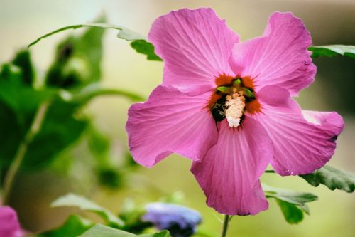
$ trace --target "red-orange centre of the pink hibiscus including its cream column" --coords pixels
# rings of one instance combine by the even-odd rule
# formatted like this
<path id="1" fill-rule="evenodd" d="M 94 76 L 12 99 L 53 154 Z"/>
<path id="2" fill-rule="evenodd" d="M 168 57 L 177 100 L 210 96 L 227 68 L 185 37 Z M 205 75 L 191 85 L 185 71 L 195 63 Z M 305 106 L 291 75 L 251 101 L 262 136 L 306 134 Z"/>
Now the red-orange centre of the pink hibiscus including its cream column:
<path id="1" fill-rule="evenodd" d="M 209 110 L 216 122 L 226 119 L 229 127 L 238 127 L 244 113 L 260 112 L 253 80 L 221 75 L 216 79 L 217 88 L 209 100 Z"/>

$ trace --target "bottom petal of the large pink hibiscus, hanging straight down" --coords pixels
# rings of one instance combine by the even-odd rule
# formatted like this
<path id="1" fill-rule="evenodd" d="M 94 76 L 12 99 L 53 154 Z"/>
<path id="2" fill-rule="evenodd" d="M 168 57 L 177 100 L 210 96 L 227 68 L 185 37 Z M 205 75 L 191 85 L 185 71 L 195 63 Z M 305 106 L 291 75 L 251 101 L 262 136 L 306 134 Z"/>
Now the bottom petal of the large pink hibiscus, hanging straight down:
<path id="1" fill-rule="evenodd" d="M 250 117 L 233 129 L 221 122 L 219 139 L 192 173 L 207 196 L 207 205 L 222 214 L 249 215 L 268 209 L 261 174 L 273 154 L 266 130 Z"/>

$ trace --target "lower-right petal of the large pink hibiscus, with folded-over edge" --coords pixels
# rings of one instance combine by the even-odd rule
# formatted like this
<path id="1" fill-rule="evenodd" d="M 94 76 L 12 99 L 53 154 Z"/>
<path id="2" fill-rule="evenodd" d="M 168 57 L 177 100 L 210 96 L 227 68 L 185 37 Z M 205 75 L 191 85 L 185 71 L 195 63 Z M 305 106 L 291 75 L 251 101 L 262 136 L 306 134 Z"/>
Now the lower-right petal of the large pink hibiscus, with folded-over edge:
<path id="1" fill-rule="evenodd" d="M 308 174 L 332 157 L 344 121 L 337 112 L 302 111 L 287 94 L 277 86 L 262 88 L 262 112 L 255 118 L 273 141 L 273 169 L 280 175 Z"/>

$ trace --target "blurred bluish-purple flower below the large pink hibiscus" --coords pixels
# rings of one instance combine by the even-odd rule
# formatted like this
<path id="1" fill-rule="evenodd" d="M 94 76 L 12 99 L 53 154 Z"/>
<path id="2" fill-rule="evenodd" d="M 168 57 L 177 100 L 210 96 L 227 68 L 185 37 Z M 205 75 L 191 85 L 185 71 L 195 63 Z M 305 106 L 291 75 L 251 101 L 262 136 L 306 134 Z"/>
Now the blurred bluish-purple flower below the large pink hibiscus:
<path id="1" fill-rule="evenodd" d="M 192 236 L 197 224 L 202 221 L 197 211 L 176 204 L 156 202 L 148 204 L 146 209 L 142 220 L 153 223 L 159 230 L 170 231 L 173 237 Z"/>

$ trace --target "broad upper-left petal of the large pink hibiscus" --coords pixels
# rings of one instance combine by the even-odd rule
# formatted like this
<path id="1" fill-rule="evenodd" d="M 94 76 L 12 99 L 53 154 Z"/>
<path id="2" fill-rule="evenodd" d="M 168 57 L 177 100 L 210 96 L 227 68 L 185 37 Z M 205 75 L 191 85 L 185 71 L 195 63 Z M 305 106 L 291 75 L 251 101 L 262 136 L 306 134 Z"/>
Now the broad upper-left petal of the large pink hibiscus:
<path id="1" fill-rule="evenodd" d="M 197 95 L 215 88 L 219 75 L 234 75 L 229 56 L 239 36 L 212 9 L 181 9 L 160 16 L 148 39 L 165 62 L 163 85 Z"/>

